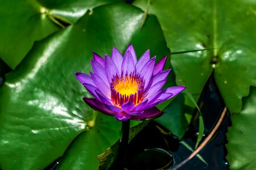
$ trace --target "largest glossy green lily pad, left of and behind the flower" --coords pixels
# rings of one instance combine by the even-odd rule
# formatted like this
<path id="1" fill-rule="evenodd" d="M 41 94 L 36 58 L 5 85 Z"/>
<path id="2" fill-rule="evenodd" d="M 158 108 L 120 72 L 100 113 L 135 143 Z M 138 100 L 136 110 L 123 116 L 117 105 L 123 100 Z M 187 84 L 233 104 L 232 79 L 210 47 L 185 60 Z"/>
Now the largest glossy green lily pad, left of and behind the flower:
<path id="1" fill-rule="evenodd" d="M 130 5 L 101 6 L 33 46 L 0 88 L 0 168 L 43 169 L 62 156 L 87 126 L 93 126 L 95 111 L 82 101 L 83 96 L 90 95 L 73 75 L 79 71 L 89 73 L 91 50 L 102 56 L 110 55 L 116 46 L 123 53 L 133 42 L 137 56 L 147 49 L 158 59 L 170 53 L 156 17 L 149 16 L 141 28 L 143 18 L 144 12 Z M 151 36 L 153 33 L 158 36 Z M 106 121 L 106 125 L 116 124 L 114 117 Z M 90 134 L 95 134 L 96 129 L 106 131 L 99 122 L 100 117 L 96 118 L 95 128 L 79 135 L 69 151 L 74 151 L 83 140 L 94 145 L 96 137 L 91 138 Z M 108 139 L 98 141 L 104 147 L 119 137 L 112 131 L 104 136 Z M 69 151 L 65 157 L 70 155 Z M 89 162 L 90 156 L 97 159 L 98 151 L 90 151 L 71 155 L 81 162 Z M 66 161 L 70 159 L 65 158 L 61 163 Z"/>

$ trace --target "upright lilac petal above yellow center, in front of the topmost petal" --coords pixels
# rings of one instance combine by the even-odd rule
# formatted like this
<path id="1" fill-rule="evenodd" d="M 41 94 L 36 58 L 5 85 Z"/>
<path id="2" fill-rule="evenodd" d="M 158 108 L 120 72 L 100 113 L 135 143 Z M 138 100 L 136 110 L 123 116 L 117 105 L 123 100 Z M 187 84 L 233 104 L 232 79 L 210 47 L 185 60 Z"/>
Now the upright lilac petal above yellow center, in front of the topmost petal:
<path id="1" fill-rule="evenodd" d="M 131 52 L 127 52 L 124 54 L 124 60 L 122 63 L 121 73 L 125 74 L 131 74 L 133 71 L 135 71 L 135 64 L 132 59 Z"/>

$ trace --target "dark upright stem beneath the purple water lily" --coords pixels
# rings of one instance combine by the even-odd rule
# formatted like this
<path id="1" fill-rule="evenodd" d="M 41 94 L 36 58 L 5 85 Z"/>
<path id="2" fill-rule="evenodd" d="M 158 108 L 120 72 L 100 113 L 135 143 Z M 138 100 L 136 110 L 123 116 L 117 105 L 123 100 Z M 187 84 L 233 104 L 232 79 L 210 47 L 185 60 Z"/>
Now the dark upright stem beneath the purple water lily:
<path id="1" fill-rule="evenodd" d="M 127 155 L 128 139 L 129 139 L 130 120 L 122 122 L 121 137 L 119 143 L 119 150 L 117 154 L 116 169 L 125 169 L 125 159 Z"/>

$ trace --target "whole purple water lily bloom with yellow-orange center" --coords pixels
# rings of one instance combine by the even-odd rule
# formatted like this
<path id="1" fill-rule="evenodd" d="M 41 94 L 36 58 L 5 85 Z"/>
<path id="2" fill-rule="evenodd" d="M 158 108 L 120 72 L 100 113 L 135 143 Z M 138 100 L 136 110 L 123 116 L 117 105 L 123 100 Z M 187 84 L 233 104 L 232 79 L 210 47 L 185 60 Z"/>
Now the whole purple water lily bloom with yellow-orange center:
<path id="1" fill-rule="evenodd" d="M 147 50 L 137 61 L 130 44 L 124 57 L 115 47 L 111 58 L 104 59 L 93 53 L 93 72 L 90 75 L 75 73 L 75 76 L 93 95 L 83 98 L 85 102 L 104 114 L 119 121 L 146 120 L 162 113 L 157 104 L 174 97 L 186 87 L 175 86 L 162 89 L 171 70 L 163 70 L 166 57 L 155 64 L 156 56 L 150 59 Z"/>

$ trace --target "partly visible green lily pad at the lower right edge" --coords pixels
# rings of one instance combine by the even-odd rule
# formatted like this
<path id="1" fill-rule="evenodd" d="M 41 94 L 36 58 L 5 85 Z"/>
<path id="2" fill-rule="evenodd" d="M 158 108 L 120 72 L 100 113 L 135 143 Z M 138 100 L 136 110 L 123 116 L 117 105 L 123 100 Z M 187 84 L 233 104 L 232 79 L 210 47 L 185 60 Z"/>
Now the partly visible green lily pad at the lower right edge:
<path id="1" fill-rule="evenodd" d="M 256 88 L 244 100 L 239 114 L 232 115 L 232 124 L 228 129 L 228 162 L 231 169 L 256 169 Z"/>

